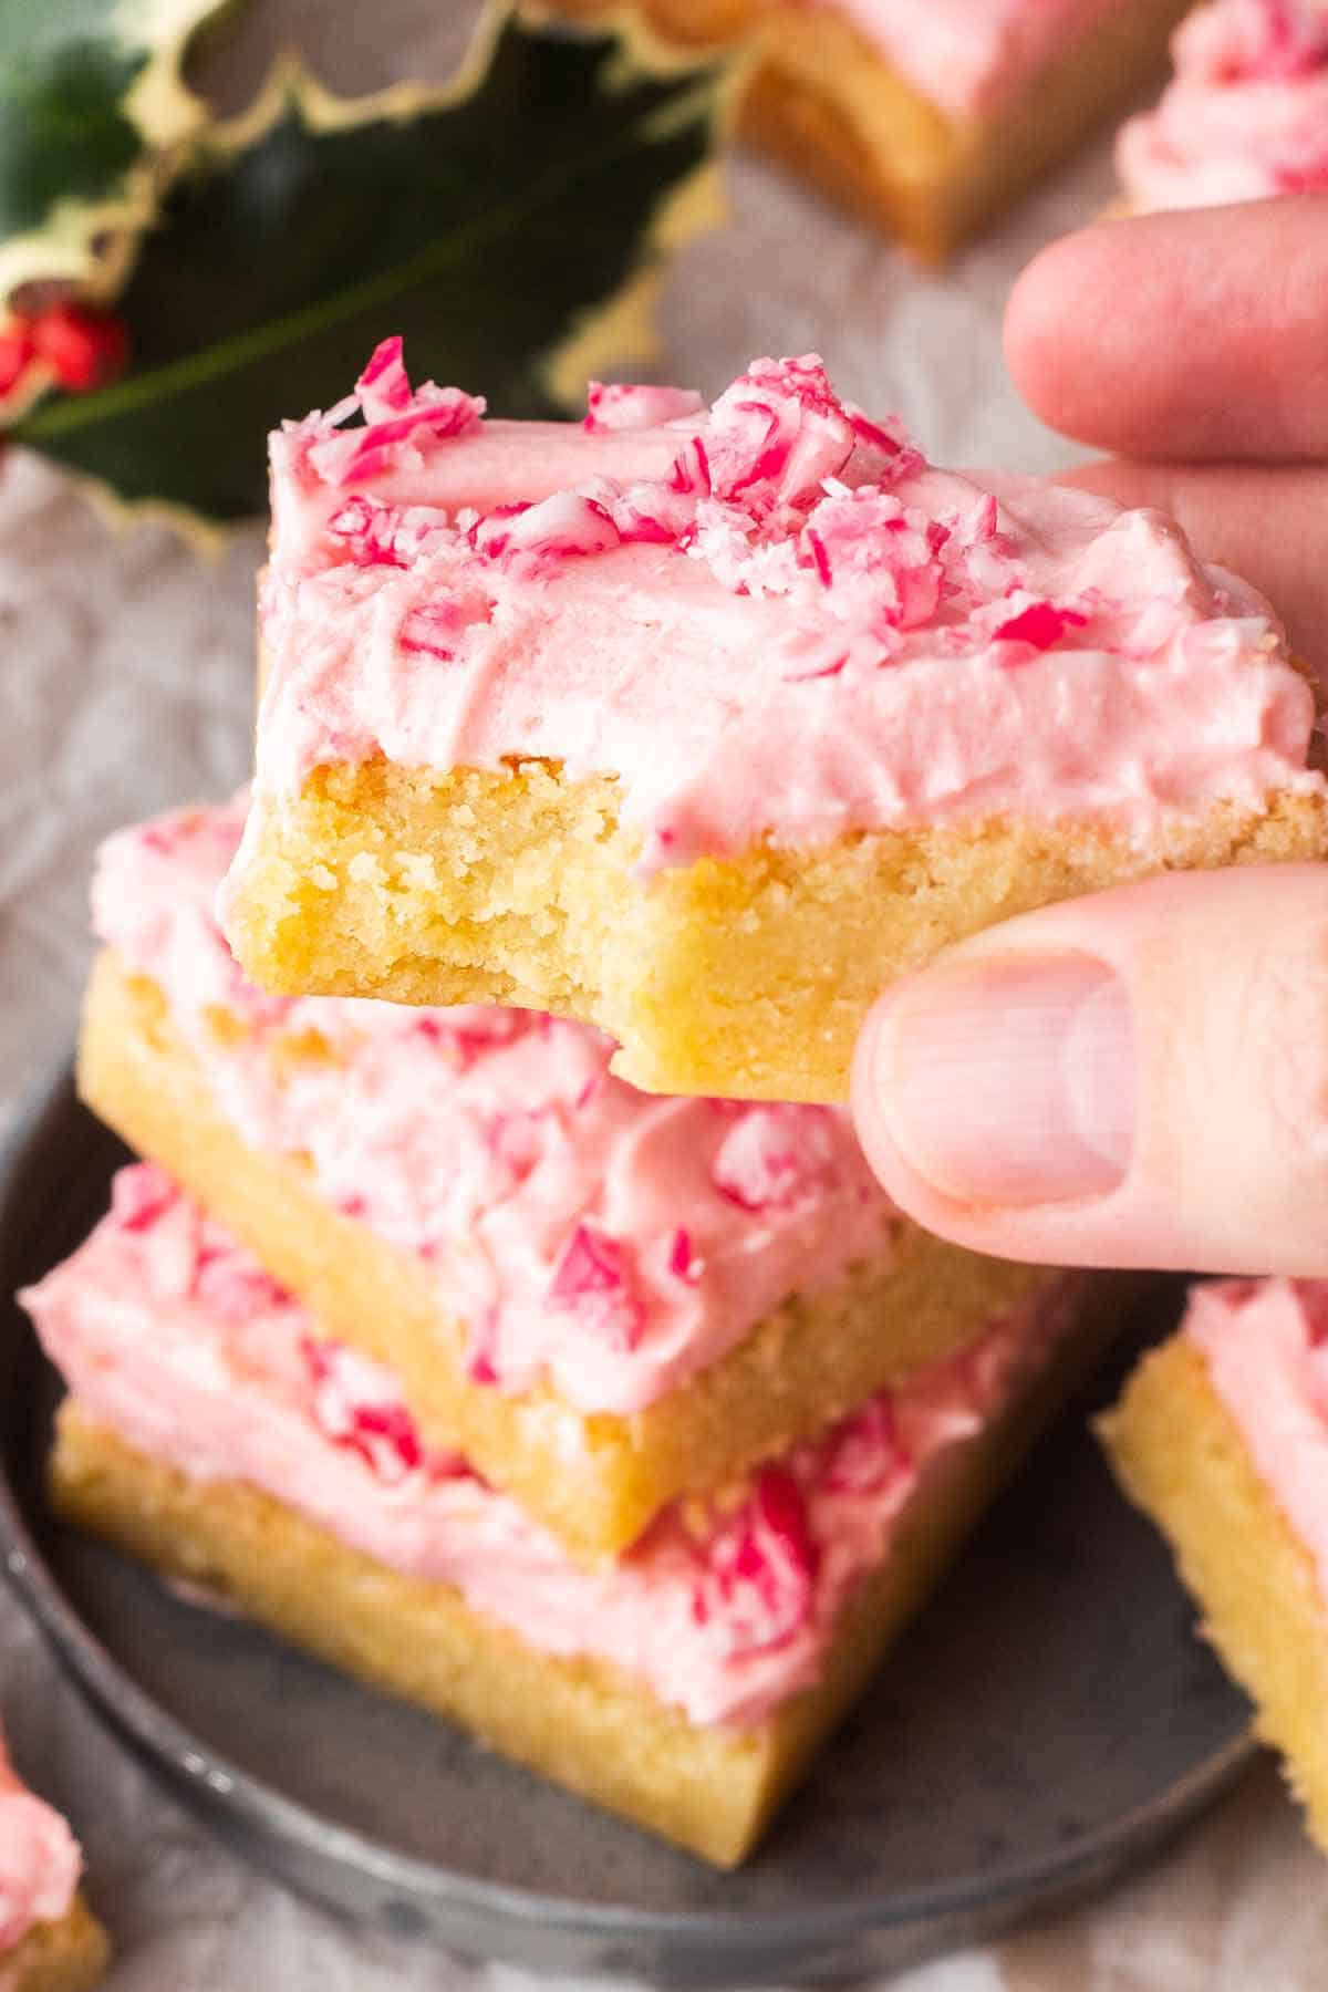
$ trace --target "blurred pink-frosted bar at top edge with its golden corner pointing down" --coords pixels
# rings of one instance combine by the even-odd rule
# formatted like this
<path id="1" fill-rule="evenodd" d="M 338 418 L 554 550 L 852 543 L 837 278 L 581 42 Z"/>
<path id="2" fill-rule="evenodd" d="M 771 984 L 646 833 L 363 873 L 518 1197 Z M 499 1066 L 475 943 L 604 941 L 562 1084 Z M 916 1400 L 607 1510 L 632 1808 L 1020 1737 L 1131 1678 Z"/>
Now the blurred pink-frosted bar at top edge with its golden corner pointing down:
<path id="1" fill-rule="evenodd" d="M 741 127 L 936 261 L 1127 106 L 1181 6 L 645 0 L 645 16 L 671 42 L 745 50 Z"/>

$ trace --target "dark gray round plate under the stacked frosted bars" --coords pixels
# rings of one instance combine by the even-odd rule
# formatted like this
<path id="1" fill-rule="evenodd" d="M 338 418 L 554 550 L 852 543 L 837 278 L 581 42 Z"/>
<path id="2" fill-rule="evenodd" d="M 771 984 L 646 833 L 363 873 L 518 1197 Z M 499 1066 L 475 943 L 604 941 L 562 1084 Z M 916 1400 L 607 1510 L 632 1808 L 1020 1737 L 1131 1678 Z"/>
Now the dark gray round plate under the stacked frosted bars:
<path id="1" fill-rule="evenodd" d="M 121 1159 L 60 1076 L 0 1185 L 0 1295 L 82 1237 Z M 1125 1341 L 1173 1315 L 1175 1287 Z M 323 1902 L 466 1954 L 687 1986 L 898 1968 L 1105 1880 L 1250 1751 L 1248 1709 L 1195 1639 L 1153 1534 L 1115 1498 L 1083 1406 L 992 1512 L 763 1853 L 719 1876 L 60 1530 L 42 1496 L 56 1396 L 12 1311 L 0 1548 L 68 1671 L 245 1853 Z"/>

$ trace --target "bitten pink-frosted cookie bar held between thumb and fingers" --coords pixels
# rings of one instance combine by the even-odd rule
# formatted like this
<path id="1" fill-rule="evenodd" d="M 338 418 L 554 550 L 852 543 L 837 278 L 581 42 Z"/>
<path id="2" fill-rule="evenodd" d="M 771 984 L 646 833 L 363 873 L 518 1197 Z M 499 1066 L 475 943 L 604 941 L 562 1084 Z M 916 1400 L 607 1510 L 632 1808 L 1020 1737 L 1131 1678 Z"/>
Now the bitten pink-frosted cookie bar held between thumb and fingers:
<path id="1" fill-rule="evenodd" d="M 223 898 L 263 986 L 569 1012 L 653 1090 L 832 1100 L 948 940 L 1324 847 L 1312 691 L 1159 514 L 936 470 L 812 359 L 583 432 L 458 428 L 404 374 L 388 420 L 374 365 L 362 428 L 273 442 Z"/>

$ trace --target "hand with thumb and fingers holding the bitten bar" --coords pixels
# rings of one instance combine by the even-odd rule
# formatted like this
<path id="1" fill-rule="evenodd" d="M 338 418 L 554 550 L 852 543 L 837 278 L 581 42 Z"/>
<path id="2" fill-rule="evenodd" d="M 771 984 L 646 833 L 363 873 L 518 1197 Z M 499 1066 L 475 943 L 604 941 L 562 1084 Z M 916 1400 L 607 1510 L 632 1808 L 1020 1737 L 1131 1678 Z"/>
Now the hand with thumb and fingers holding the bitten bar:
<path id="1" fill-rule="evenodd" d="M 1173 512 L 1328 677 L 1328 197 L 1071 235 L 1005 339 L 1039 414 L 1121 452 L 1069 480 Z M 974 1249 L 1328 1273 L 1328 867 L 1171 874 L 946 950 L 872 1010 L 854 1110 L 900 1205 Z"/>

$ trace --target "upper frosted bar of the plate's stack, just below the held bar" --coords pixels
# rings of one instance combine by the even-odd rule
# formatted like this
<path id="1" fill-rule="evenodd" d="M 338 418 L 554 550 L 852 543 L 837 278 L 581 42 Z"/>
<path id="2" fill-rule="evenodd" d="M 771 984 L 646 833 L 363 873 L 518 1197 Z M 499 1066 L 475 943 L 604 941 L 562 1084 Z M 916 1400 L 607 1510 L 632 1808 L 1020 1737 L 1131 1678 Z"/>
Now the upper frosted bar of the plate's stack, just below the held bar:
<path id="1" fill-rule="evenodd" d="M 641 1096 L 518 1012 L 259 994 L 211 914 L 237 835 L 104 847 L 84 1098 L 579 1554 L 1051 1279 L 918 1231 L 838 1110 Z"/>

